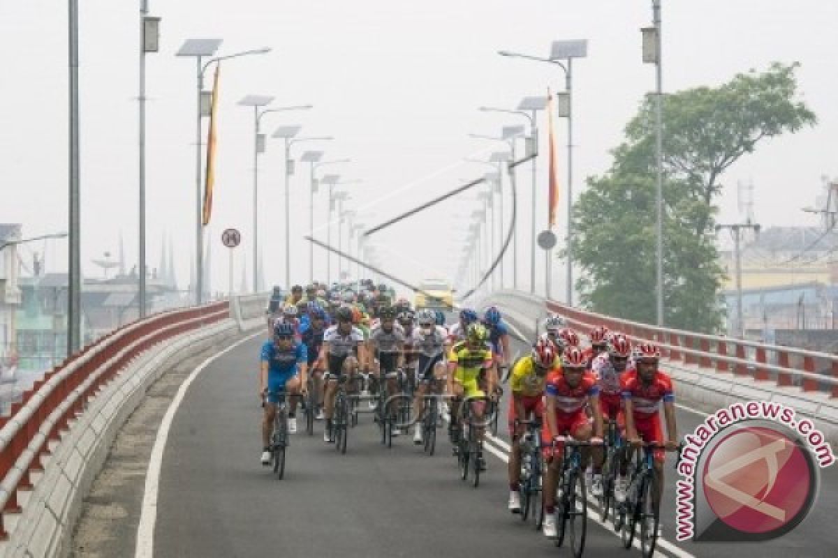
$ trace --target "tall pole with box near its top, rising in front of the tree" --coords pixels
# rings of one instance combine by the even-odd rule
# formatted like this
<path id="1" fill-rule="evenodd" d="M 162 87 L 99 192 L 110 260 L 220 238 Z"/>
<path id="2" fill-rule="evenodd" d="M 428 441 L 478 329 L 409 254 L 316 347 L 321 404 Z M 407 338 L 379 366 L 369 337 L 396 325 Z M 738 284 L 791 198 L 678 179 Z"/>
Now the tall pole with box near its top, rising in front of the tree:
<path id="1" fill-rule="evenodd" d="M 660 98 L 663 95 L 663 73 L 661 64 L 660 42 L 660 0 L 652 0 L 652 25 L 642 28 L 643 33 L 643 61 L 655 66 L 655 95 L 654 95 L 654 159 L 656 167 L 654 204 L 657 209 L 657 307 L 658 325 L 664 325 L 664 156 L 663 156 L 663 122 L 660 110 Z M 742 299 L 740 296 L 740 306 Z M 741 309 L 740 309 L 741 310 Z"/>

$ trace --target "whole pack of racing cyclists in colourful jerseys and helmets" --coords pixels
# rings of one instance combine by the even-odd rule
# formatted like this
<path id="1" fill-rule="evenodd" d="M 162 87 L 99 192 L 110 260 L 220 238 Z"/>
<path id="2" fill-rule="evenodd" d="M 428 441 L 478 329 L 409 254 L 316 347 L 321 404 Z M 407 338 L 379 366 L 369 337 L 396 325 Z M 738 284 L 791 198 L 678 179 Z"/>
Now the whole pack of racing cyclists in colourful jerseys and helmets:
<path id="1" fill-rule="evenodd" d="M 489 307 L 482 319 L 474 310 L 459 310 L 457 323 L 446 326 L 441 311 L 414 310 L 406 299 L 393 300 L 385 284 L 368 281 L 360 287 L 355 292 L 341 285 L 311 284 L 304 291 L 295 286 L 282 312 L 271 316 L 272 339 L 261 347 L 259 382 L 265 409 L 263 464 L 271 461 L 269 439 L 279 393 L 314 390 L 318 395 L 313 398 L 318 402 L 314 412 L 325 422 L 323 439 L 334 443 L 334 398 L 342 379 L 362 376 L 370 380 L 365 385 L 370 392 L 385 389 L 396 393 L 404 385 L 400 375 L 406 375 L 413 394 L 412 417 L 420 417 L 426 395 L 444 395 L 449 433 L 453 433 L 461 426 L 467 405 L 469 416 L 480 419 L 487 412 L 487 403 L 499 403 L 502 375 L 508 371 L 504 381 L 510 382 L 512 393 L 508 407 L 512 441 L 508 507 L 512 513 L 521 512 L 520 440 L 528 419 L 541 424 L 545 463 L 542 529 L 546 536 L 556 537 L 554 497 L 564 454 L 562 440 L 589 443 L 582 450 L 587 485 L 594 497 L 602 496 L 603 431 L 609 422 L 617 425 L 627 442 L 619 454 L 614 498 L 618 502 L 626 498 L 632 453 L 643 443 L 658 444 L 654 446 L 654 472 L 659 479 L 654 504 L 660 504 L 664 452 L 677 448 L 677 427 L 673 385 L 670 376 L 659 369 L 657 346 L 647 342 L 633 345 L 626 335 L 597 327 L 589 332 L 590 344 L 583 349 L 577 333 L 566 327 L 560 316 L 549 316 L 530 354 L 511 363 L 510 333 L 497 308 Z M 371 398 L 369 404 L 372 409 L 380 401 Z M 292 399 L 288 412 L 291 433 L 297 431 L 296 407 Z M 400 431 L 394 423 L 391 434 Z M 477 427 L 477 433 L 482 439 L 484 427 Z M 422 443 L 418 421 L 413 441 Z M 476 458 L 484 469 L 483 456 Z"/>

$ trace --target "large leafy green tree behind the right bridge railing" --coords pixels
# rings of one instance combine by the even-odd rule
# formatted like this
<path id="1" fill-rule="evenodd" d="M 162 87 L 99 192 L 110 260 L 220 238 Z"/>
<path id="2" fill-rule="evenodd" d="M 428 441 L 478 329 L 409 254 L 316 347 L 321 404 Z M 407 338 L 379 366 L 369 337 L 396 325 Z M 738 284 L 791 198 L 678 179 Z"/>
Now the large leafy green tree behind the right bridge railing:
<path id="1" fill-rule="evenodd" d="M 815 125 L 794 100 L 798 64 L 774 63 L 717 88 L 667 95 L 664 145 L 665 325 L 713 331 L 723 270 L 714 239 L 723 173 L 759 141 Z M 654 99 L 646 99 L 602 177 L 589 177 L 573 208 L 573 250 L 582 304 L 603 314 L 655 320 Z"/>

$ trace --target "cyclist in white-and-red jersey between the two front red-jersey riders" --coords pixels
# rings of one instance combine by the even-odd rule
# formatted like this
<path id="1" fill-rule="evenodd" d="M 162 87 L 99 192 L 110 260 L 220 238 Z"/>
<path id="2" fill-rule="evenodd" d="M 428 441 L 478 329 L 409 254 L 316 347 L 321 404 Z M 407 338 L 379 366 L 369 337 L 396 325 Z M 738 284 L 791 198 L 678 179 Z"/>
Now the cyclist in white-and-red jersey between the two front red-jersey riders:
<path id="1" fill-rule="evenodd" d="M 593 359 L 591 371 L 597 377 L 599 385 L 599 406 L 603 410 L 603 420 L 610 419 L 623 426 L 622 402 L 620 397 L 620 377 L 626 370 L 631 353 L 631 343 L 625 335 L 612 335 L 608 341 L 608 351 Z M 603 495 L 603 448 L 592 448 L 593 476 L 591 494 Z"/>

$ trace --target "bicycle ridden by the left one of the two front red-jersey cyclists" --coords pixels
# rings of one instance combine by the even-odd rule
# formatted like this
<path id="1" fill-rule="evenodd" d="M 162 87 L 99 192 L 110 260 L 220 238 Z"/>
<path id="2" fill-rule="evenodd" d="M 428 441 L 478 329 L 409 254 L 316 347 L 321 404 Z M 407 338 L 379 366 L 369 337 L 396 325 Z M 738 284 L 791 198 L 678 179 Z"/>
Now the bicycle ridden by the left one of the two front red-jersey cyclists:
<path id="1" fill-rule="evenodd" d="M 582 452 L 580 448 L 601 445 L 601 443 L 580 442 L 570 436 L 553 438 L 553 451 L 556 442 L 564 443 L 561 474 L 556 487 L 559 491 L 556 501 L 556 546 L 565 540 L 566 525 L 570 524 L 571 551 L 576 558 L 585 550 L 587 535 L 587 492 L 585 473 L 582 470 Z"/>

